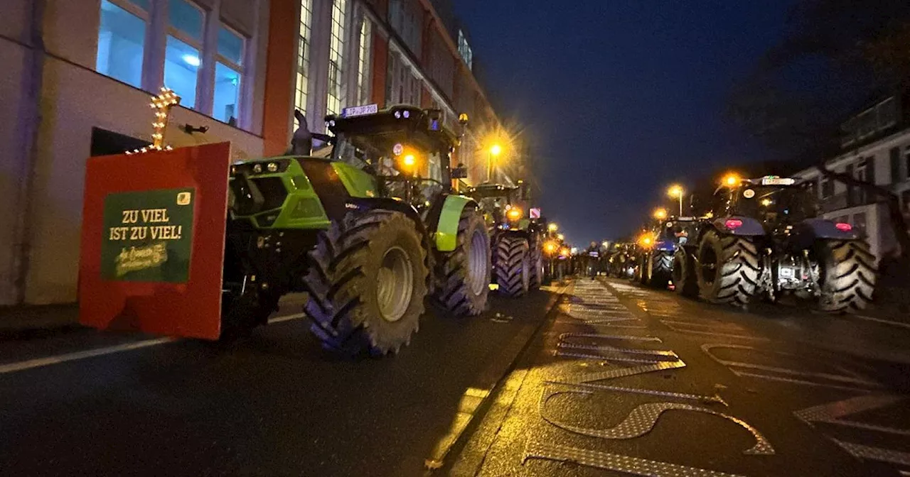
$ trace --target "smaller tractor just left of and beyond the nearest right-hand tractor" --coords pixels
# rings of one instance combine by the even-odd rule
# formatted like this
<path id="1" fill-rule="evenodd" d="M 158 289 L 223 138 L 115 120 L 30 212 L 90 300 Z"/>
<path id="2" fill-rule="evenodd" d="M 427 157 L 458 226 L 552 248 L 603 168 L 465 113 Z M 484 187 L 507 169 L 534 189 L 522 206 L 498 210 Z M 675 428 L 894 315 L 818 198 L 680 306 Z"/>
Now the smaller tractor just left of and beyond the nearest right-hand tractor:
<path id="1" fill-rule="evenodd" d="M 674 215 L 657 218 L 654 227 L 639 240 L 636 279 L 643 285 L 666 288 L 672 280 L 673 260 L 681 247 L 688 246 L 689 237 L 698 234 L 700 222 L 691 216 Z"/>

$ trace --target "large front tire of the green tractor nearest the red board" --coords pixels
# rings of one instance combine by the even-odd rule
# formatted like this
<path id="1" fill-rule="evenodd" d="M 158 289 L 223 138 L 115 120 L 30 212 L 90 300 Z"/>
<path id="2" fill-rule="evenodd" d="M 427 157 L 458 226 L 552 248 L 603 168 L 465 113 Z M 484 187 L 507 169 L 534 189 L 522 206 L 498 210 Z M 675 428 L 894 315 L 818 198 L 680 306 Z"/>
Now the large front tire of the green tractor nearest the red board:
<path id="1" fill-rule="evenodd" d="M 303 283 L 310 330 L 340 353 L 398 353 L 410 343 L 424 311 L 425 261 L 420 233 L 407 215 L 387 210 L 345 215 L 319 233 L 309 252 Z"/>

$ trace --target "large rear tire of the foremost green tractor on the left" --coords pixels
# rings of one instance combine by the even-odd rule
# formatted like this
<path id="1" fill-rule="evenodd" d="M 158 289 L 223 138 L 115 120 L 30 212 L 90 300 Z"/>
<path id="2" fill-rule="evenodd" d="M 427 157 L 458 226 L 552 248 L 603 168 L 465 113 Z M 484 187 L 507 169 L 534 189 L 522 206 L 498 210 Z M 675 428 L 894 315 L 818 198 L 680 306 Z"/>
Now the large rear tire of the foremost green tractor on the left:
<path id="1" fill-rule="evenodd" d="M 455 250 L 436 252 L 434 299 L 453 316 L 474 316 L 490 294 L 490 233 L 477 209 L 461 211 Z"/>

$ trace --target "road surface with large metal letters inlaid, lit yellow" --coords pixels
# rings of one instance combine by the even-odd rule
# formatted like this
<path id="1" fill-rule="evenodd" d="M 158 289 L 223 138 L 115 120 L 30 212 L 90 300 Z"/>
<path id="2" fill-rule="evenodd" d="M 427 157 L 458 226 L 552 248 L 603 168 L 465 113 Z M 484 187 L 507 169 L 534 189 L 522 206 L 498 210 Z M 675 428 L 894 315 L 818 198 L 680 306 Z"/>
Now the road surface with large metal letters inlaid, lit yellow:
<path id="1" fill-rule="evenodd" d="M 910 330 L 576 282 L 443 471 L 910 475 Z"/>

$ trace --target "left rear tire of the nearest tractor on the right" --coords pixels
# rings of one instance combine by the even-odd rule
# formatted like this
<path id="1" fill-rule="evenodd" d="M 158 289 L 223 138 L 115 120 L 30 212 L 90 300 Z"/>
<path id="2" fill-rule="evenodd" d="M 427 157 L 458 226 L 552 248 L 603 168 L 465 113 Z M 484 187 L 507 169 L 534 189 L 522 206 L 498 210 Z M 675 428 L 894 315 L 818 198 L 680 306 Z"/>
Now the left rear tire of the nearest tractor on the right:
<path id="1" fill-rule="evenodd" d="M 745 305 L 753 299 L 761 273 L 758 249 L 750 237 L 708 231 L 698 245 L 695 273 L 705 300 Z"/>

